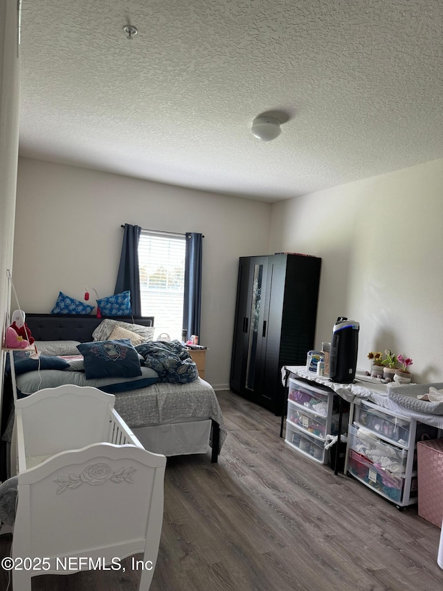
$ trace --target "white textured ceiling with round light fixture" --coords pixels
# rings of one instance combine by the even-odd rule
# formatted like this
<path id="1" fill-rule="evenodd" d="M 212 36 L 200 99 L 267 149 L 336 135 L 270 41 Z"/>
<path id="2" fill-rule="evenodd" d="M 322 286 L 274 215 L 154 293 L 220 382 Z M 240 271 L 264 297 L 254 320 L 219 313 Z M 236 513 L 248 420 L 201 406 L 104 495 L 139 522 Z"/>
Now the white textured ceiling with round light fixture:
<path id="1" fill-rule="evenodd" d="M 22 6 L 21 156 L 266 201 L 443 157 L 441 0 Z"/>

